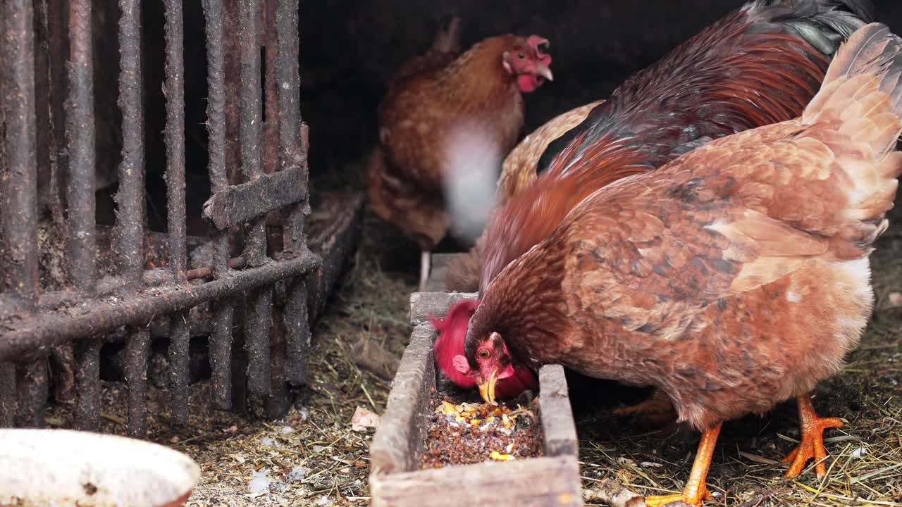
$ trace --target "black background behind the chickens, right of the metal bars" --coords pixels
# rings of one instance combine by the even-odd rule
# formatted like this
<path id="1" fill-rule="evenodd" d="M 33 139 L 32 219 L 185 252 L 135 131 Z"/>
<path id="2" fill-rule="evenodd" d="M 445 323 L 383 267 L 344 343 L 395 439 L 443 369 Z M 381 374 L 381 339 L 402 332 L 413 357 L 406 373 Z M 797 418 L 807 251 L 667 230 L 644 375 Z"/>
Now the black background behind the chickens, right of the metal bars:
<path id="1" fill-rule="evenodd" d="M 444 14 L 464 19 L 465 47 L 498 33 L 551 41 L 555 81 L 526 95 L 528 131 L 607 97 L 745 2 L 739 0 L 301 1 L 302 114 L 313 171 L 331 171 L 375 143 L 375 105 L 404 60 L 432 42 Z M 516 5 L 515 5 L 516 4 Z M 877 0 L 878 20 L 902 30 L 902 1 Z"/>

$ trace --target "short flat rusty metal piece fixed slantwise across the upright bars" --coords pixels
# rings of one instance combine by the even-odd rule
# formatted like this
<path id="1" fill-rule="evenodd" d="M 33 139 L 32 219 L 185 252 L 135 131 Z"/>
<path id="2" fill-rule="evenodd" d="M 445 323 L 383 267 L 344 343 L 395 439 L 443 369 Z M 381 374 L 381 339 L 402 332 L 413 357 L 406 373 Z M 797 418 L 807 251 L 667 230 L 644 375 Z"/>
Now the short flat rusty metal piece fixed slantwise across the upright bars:
<path id="1" fill-rule="evenodd" d="M 207 200 L 204 215 L 220 230 L 248 220 L 254 220 L 252 226 L 256 227 L 257 222 L 263 224 L 262 216 L 266 213 L 306 200 L 306 176 L 307 171 L 293 167 L 220 190 Z M 259 245 L 262 243 L 253 244 L 251 248 L 259 248 Z"/>

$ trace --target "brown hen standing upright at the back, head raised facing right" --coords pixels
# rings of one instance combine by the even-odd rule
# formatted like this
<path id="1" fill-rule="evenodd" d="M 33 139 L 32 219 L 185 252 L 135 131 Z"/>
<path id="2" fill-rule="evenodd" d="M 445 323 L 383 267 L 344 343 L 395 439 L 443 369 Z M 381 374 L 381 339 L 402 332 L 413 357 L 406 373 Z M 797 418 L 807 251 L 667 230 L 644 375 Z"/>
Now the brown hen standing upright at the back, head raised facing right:
<path id="1" fill-rule="evenodd" d="M 456 27 L 452 23 L 432 51 L 392 79 L 379 105 L 380 143 L 367 171 L 373 211 L 419 245 L 420 290 L 430 252 L 452 223 L 449 185 L 468 181 L 467 172 L 483 170 L 479 164 L 492 156 L 500 166 L 522 129 L 520 94 L 552 78 L 547 40 L 501 35 L 458 56 L 444 51 L 456 44 Z M 466 135 L 483 143 L 481 152 L 469 155 L 461 146 Z"/>

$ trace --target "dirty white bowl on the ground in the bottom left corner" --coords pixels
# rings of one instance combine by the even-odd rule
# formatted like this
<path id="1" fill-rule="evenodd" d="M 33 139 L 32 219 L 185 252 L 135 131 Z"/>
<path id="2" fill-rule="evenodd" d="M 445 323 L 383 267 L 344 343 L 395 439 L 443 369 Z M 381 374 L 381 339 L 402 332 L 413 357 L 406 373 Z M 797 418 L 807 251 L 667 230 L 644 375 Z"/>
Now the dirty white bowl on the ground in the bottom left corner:
<path id="1" fill-rule="evenodd" d="M 0 507 L 177 507 L 199 479 L 194 460 L 143 440 L 0 429 Z"/>

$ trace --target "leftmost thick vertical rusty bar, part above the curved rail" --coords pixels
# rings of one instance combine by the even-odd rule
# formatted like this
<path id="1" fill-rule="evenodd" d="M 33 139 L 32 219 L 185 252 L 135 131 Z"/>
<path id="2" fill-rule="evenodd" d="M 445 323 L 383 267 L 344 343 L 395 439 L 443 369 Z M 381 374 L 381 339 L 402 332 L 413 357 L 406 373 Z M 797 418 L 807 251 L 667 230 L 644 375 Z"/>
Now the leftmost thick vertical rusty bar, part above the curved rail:
<path id="1" fill-rule="evenodd" d="M 4 0 L 0 50 L 0 97 L 6 119 L 7 172 L 0 182 L 0 258 L 4 291 L 16 295 L 18 309 L 38 300 L 38 161 L 34 101 L 34 13 L 32 0 Z"/>

